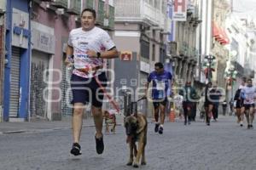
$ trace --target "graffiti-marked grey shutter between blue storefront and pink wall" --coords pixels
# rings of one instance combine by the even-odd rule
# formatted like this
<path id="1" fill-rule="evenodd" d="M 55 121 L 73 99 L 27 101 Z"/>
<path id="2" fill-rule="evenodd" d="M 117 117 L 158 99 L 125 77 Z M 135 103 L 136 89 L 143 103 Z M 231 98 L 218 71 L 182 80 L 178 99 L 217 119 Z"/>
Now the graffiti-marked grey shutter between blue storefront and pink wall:
<path id="1" fill-rule="evenodd" d="M 30 112 L 32 118 L 47 117 L 49 54 L 32 50 Z"/>

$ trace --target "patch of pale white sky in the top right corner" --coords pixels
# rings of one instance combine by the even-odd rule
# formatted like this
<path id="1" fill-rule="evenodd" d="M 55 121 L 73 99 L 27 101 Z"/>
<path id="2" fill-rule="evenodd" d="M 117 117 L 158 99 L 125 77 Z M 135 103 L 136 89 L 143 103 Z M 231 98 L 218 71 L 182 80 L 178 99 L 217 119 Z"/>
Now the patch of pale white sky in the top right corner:
<path id="1" fill-rule="evenodd" d="M 256 19 L 256 0 L 233 0 L 233 12 L 242 18 Z"/>

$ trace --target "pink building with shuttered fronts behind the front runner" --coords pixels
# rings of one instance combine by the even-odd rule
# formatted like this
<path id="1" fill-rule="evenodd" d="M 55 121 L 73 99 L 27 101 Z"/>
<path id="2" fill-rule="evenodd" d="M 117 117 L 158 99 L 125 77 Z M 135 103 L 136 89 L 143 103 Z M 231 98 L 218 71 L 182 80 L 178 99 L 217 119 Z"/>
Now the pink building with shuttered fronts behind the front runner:
<path id="1" fill-rule="evenodd" d="M 72 115 L 70 71 L 64 65 L 69 31 L 79 27 L 83 8 L 95 8 L 97 24 L 113 29 L 113 7 L 102 0 L 33 3 L 30 116 L 61 120 Z"/>

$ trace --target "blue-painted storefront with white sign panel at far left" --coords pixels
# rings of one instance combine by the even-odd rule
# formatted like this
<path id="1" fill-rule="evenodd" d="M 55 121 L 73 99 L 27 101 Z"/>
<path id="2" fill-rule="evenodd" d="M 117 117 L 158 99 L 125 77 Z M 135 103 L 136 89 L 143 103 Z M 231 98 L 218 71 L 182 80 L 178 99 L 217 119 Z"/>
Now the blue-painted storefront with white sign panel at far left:
<path id="1" fill-rule="evenodd" d="M 26 120 L 29 105 L 31 25 L 29 1 L 6 2 L 3 120 Z"/>

